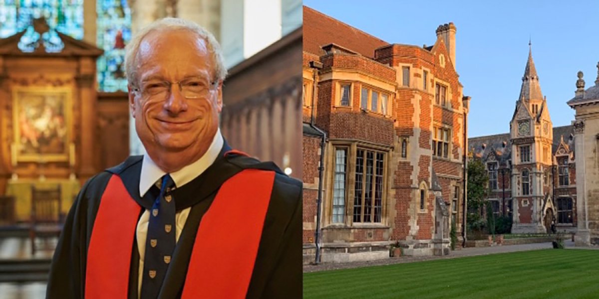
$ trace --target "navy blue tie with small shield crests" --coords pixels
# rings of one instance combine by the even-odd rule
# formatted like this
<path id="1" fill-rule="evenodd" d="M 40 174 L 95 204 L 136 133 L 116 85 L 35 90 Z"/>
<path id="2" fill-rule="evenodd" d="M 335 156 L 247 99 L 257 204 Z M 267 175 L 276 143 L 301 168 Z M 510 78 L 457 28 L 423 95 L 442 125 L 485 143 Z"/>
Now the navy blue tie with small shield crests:
<path id="1" fill-rule="evenodd" d="M 175 202 L 168 194 L 174 187 L 170 175 L 162 177 L 160 195 L 150 210 L 141 298 L 156 298 L 167 274 L 176 245 Z"/>

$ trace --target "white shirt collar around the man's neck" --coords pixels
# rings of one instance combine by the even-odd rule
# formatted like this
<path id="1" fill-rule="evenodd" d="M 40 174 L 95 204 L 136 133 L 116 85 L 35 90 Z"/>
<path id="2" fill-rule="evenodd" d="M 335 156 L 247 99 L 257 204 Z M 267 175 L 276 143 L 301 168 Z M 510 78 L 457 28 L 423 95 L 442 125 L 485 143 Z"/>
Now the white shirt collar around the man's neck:
<path id="1" fill-rule="evenodd" d="M 223 144 L 224 141 L 222 135 L 220 134 L 220 129 L 217 129 L 210 147 L 208 147 L 208 150 L 204 155 L 202 155 L 201 158 L 187 166 L 184 166 L 180 170 L 171 173 L 171 178 L 173 178 L 173 181 L 177 187 L 181 187 L 192 181 L 198 175 L 201 175 L 202 172 L 208 168 L 208 166 L 214 163 L 214 160 L 216 160 L 218 157 Z M 141 163 L 140 196 L 143 197 L 144 194 L 150 190 L 152 185 L 154 185 L 156 181 L 162 178 L 162 176 L 165 174 L 167 173 L 160 169 L 160 167 L 154 163 L 152 158 L 150 158 L 146 152 L 146 154 L 144 154 L 143 162 Z"/>

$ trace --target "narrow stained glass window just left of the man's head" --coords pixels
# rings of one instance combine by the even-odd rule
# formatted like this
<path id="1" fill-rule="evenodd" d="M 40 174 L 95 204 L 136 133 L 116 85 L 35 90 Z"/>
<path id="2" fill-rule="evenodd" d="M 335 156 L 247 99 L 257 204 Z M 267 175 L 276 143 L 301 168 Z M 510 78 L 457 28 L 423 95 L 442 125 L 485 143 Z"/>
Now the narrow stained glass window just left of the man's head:
<path id="1" fill-rule="evenodd" d="M 99 90 L 126 91 L 125 45 L 131 40 L 131 10 L 127 0 L 96 0 L 96 4 L 97 46 L 104 50 L 98 59 Z"/>

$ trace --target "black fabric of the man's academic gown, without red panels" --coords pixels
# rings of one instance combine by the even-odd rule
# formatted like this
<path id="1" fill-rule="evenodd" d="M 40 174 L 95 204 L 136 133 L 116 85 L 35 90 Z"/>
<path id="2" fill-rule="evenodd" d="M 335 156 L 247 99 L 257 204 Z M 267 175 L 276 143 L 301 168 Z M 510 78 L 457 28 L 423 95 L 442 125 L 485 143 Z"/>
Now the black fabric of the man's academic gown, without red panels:
<path id="1" fill-rule="evenodd" d="M 210 208 L 220 185 L 226 179 L 250 168 L 274 170 L 276 175 L 246 298 L 301 298 L 301 182 L 283 174 L 274 163 L 260 163 L 242 155 L 224 157 L 224 152 L 228 149 L 225 144 L 219 157 L 204 173 L 171 191 L 177 210 L 192 208 L 181 231 L 173 261 L 158 298 L 181 297 L 202 215 Z M 146 196 L 139 196 L 142 160 L 142 156 L 129 157 L 119 166 L 93 176 L 81 188 L 60 234 L 50 269 L 47 298 L 84 298 L 87 249 L 92 236 L 93 222 L 102 194 L 113 173 L 122 178 L 129 194 L 140 206 L 145 209 L 152 207 L 157 195 L 154 194 L 156 190 L 150 189 Z M 141 210 L 143 213 L 143 209 Z M 137 299 L 139 258 L 137 242 L 134 240 L 129 269 L 129 298 L 132 299 Z"/>

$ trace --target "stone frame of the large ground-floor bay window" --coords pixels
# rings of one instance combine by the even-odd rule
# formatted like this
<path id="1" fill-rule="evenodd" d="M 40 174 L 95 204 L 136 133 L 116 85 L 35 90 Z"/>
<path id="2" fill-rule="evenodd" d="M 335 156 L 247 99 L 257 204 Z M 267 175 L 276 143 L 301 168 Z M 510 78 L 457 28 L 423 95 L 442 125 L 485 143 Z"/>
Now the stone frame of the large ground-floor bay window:
<path id="1" fill-rule="evenodd" d="M 332 145 L 331 163 L 329 163 L 329 170 L 326 171 L 326 178 L 328 184 L 330 184 L 329 191 L 326 196 L 326 225 L 338 226 L 343 225 L 344 227 L 386 227 L 388 224 L 388 196 L 389 196 L 389 160 L 391 159 L 392 148 L 384 145 L 371 144 L 370 142 L 364 141 L 347 141 L 338 140 L 330 141 Z M 335 158 L 337 148 L 347 148 L 346 155 L 346 193 L 345 193 L 345 215 L 343 216 L 344 222 L 332 222 L 333 220 L 333 203 L 334 203 L 334 180 L 335 180 Z M 380 222 L 374 222 L 374 193 L 373 193 L 373 221 L 371 222 L 354 222 L 353 221 L 353 208 L 355 200 L 355 182 L 356 182 L 356 161 L 358 149 L 364 149 L 367 151 L 382 152 L 383 158 L 383 190 L 382 190 L 382 202 L 381 202 L 381 214 Z M 374 173 L 374 170 L 373 170 Z M 364 178 L 365 179 L 365 178 Z M 374 178 L 373 178 L 374 180 Z M 373 186 L 374 187 L 374 186 Z M 374 192 L 374 189 L 373 189 Z M 363 193 L 364 194 L 364 193 Z M 364 195 L 362 195 L 364 200 Z"/>

